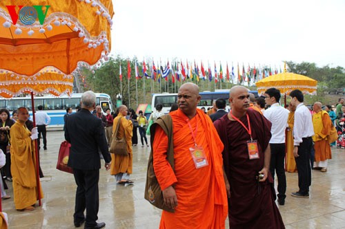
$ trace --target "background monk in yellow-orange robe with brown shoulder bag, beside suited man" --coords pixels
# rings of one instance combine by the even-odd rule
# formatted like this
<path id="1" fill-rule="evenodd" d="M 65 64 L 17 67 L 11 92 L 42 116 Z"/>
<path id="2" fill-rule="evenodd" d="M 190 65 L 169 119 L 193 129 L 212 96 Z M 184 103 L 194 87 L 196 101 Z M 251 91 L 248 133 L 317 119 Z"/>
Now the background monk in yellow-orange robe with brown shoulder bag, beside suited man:
<path id="1" fill-rule="evenodd" d="M 130 174 L 132 174 L 132 165 L 133 165 L 133 153 L 132 153 L 132 130 L 133 124 L 131 120 L 127 120 L 126 116 L 128 109 L 125 105 L 119 107 L 119 114 L 115 118 L 112 124 L 112 138 L 115 138 L 115 131 L 117 123 L 121 118 L 121 124 L 119 126 L 119 131 L 117 133 L 118 138 L 124 138 L 126 134 L 127 141 L 127 152 L 128 156 L 117 155 L 112 153 L 111 160 L 112 164 L 110 167 L 110 174 L 115 175 L 117 184 L 133 184 L 130 180 Z"/>

